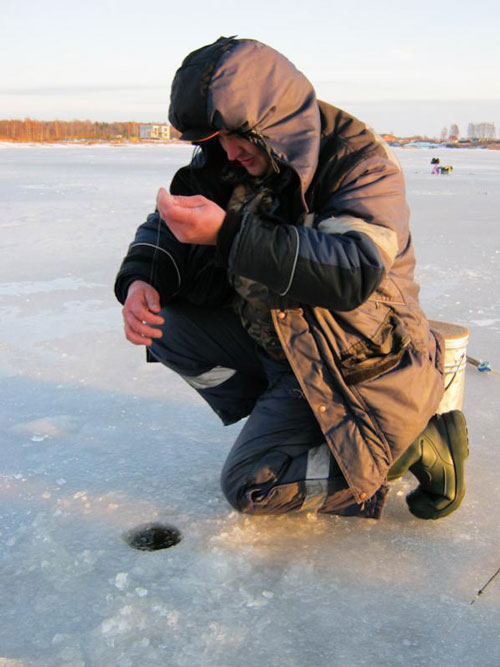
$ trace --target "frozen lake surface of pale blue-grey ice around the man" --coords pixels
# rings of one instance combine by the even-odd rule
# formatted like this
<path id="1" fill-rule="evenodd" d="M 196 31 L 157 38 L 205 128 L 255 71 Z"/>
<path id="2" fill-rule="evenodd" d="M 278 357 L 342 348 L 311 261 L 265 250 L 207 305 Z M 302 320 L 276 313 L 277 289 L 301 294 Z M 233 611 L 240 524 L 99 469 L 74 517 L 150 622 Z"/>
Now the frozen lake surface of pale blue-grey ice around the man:
<path id="1" fill-rule="evenodd" d="M 245 517 L 219 489 L 239 426 L 123 338 L 115 273 L 190 153 L 0 144 L 0 665 L 498 667 L 500 576 L 471 604 L 500 567 L 498 375 L 467 368 L 451 517 L 412 517 L 410 476 L 380 522 Z M 397 154 L 427 315 L 500 370 L 500 152 Z M 183 541 L 129 548 L 152 520 Z"/>

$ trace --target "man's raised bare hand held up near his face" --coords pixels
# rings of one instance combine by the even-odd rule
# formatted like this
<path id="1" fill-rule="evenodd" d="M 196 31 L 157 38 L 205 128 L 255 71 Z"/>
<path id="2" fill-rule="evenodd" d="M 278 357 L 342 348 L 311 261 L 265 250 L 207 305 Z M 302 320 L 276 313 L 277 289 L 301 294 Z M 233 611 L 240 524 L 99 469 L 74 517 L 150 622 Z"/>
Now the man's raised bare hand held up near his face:
<path id="1" fill-rule="evenodd" d="M 181 243 L 215 245 L 226 212 L 218 204 L 203 197 L 181 197 L 160 188 L 156 205 L 160 216 Z"/>

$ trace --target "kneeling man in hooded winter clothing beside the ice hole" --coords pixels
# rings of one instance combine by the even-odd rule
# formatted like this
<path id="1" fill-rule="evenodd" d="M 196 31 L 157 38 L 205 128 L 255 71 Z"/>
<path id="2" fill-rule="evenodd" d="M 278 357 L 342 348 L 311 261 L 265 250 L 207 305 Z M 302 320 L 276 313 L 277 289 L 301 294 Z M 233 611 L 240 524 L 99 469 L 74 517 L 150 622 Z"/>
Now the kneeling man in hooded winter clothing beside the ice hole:
<path id="1" fill-rule="evenodd" d="M 229 502 L 378 518 L 387 479 L 410 469 L 410 511 L 450 514 L 467 430 L 459 411 L 434 416 L 441 342 L 418 303 L 397 160 L 254 40 L 189 54 L 169 118 L 199 151 L 160 189 L 115 291 L 130 342 L 225 424 L 248 415 L 222 472 Z"/>

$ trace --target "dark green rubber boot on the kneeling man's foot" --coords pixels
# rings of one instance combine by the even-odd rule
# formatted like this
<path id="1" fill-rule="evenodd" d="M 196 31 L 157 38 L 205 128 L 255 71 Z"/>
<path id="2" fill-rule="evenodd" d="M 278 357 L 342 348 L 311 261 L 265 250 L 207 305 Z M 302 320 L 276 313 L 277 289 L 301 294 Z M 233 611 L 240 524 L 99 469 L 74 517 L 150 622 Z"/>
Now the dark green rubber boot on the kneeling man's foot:
<path id="1" fill-rule="evenodd" d="M 419 519 L 440 519 L 454 512 L 465 495 L 465 459 L 469 441 L 460 410 L 434 415 L 425 430 L 394 463 L 387 478 L 410 470 L 420 485 L 406 497 Z"/>

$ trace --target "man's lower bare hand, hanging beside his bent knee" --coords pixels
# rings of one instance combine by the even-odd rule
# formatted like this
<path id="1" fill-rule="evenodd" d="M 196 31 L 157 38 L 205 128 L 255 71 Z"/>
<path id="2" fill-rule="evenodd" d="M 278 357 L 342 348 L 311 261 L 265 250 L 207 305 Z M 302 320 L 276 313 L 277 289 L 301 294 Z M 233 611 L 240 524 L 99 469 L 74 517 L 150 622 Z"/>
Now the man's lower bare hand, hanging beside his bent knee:
<path id="1" fill-rule="evenodd" d="M 142 280 L 131 283 L 122 310 L 125 338 L 134 345 L 151 345 L 153 338 L 161 338 L 161 330 L 150 326 L 164 323 L 163 317 L 155 315 L 160 310 L 160 295 L 154 287 Z"/>

